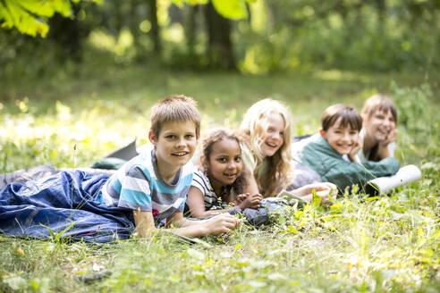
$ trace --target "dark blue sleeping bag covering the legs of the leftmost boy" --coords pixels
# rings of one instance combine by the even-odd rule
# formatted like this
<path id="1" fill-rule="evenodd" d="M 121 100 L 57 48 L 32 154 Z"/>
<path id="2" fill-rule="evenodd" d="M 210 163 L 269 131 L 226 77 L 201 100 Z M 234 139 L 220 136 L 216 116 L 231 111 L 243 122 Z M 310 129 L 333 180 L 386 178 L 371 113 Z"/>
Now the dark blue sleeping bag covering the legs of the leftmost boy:
<path id="1" fill-rule="evenodd" d="M 128 239 L 134 230 L 130 209 L 104 204 L 100 188 L 106 174 L 59 172 L 53 177 L 11 183 L 0 191 L 0 233 L 38 239 L 51 233 L 86 242 Z"/>

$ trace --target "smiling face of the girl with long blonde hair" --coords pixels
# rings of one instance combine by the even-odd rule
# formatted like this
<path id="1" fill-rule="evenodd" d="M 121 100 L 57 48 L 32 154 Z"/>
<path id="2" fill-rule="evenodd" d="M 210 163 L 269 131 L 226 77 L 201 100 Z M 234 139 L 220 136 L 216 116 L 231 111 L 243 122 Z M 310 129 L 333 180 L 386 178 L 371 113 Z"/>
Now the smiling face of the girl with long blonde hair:
<path id="1" fill-rule="evenodd" d="M 283 147 L 284 129 L 285 122 L 283 116 L 279 113 L 271 113 L 267 129 L 262 133 L 261 151 L 265 157 L 275 155 L 276 151 Z"/>

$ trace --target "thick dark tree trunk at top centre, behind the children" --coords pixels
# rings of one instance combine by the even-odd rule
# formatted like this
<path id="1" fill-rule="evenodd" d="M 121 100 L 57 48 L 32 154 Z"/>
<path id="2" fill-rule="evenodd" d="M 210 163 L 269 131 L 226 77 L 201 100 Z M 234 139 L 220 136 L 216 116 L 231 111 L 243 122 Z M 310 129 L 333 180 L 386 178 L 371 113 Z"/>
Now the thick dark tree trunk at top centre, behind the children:
<path id="1" fill-rule="evenodd" d="M 207 21 L 209 65 L 213 68 L 235 70 L 231 22 L 218 14 L 211 3 L 205 7 L 205 18 Z"/>

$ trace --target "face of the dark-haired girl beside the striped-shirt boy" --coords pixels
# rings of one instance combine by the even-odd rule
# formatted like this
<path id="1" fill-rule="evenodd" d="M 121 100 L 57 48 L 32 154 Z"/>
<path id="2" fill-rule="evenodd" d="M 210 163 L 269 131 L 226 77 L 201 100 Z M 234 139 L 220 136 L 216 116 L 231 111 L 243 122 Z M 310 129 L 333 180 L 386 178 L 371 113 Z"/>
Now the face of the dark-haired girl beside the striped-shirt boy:
<path id="1" fill-rule="evenodd" d="M 214 143 L 207 166 L 213 187 L 233 184 L 242 168 L 241 149 L 235 139 L 225 138 Z"/>

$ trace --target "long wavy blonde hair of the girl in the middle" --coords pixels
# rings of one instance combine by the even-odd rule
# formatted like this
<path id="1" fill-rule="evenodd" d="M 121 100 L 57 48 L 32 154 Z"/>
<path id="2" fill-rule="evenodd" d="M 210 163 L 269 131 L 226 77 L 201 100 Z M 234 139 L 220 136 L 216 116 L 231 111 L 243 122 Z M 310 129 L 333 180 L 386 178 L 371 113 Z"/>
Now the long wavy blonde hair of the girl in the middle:
<path id="1" fill-rule="evenodd" d="M 270 157 L 264 157 L 261 151 L 264 131 L 270 121 L 270 115 L 278 113 L 284 120 L 283 146 Z M 285 105 L 279 101 L 267 98 L 252 105 L 246 112 L 240 126 L 241 141 L 250 149 L 250 153 L 257 162 L 257 168 L 250 170 L 257 180 L 258 189 L 264 197 L 273 197 L 280 190 L 285 188 L 291 180 L 291 115 Z M 265 174 L 258 176 L 258 169 L 263 160 L 268 163 L 268 170 Z"/>

